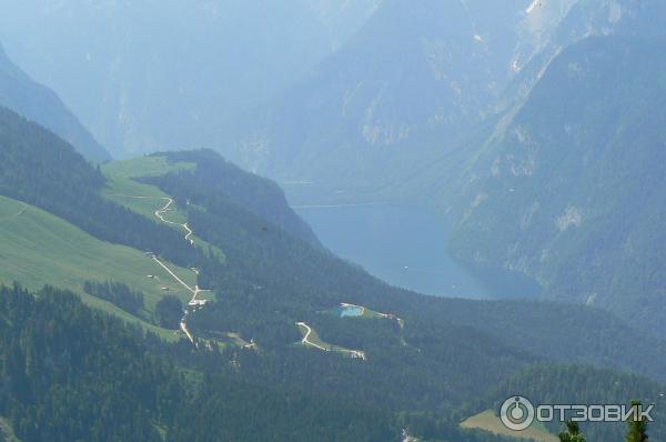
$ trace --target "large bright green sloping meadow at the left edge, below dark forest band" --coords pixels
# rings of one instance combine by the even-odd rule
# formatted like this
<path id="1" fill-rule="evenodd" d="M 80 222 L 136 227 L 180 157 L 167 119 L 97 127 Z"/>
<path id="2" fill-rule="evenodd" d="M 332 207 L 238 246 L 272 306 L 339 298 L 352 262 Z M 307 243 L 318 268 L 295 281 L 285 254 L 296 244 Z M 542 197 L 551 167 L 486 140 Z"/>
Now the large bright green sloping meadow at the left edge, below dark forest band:
<path id="1" fill-rule="evenodd" d="M 0 282 L 20 282 L 38 290 L 46 284 L 69 289 L 88 304 L 125 320 L 139 321 L 125 311 L 83 292 L 84 281 L 113 280 L 145 294 L 145 310 L 154 311 L 164 294 L 186 303 L 191 294 L 152 258 L 124 245 L 100 241 L 67 221 L 22 202 L 0 197 Z M 190 269 L 165 265 L 186 284 L 196 284 Z M 153 278 L 150 278 L 153 277 Z M 173 339 L 168 330 L 154 328 Z"/>

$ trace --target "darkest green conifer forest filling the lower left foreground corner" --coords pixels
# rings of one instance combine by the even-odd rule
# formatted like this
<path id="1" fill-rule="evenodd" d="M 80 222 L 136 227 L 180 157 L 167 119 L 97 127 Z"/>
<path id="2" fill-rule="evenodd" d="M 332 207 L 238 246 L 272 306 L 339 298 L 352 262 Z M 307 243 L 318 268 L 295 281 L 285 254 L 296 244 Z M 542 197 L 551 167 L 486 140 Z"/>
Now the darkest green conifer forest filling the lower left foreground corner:
<path id="1" fill-rule="evenodd" d="M 228 375 L 67 292 L 0 288 L 0 415 L 23 441 L 386 441 L 391 414 Z"/>

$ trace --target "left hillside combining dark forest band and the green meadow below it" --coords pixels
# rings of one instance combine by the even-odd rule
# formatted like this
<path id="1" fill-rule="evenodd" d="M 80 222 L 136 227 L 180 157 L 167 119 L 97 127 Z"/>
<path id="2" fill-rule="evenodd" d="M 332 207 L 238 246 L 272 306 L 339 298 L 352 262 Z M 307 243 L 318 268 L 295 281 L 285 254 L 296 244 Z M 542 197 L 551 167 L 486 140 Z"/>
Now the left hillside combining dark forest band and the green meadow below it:
<path id="1" fill-rule="evenodd" d="M 208 260 L 204 253 L 157 217 L 107 201 L 99 169 L 52 132 L 3 108 L 0 144 L 0 194 L 9 197 L 2 199 L 2 281 L 67 288 L 95 308 L 179 339 L 178 321 L 172 330 L 154 328 L 161 324 L 158 308 L 167 295 L 179 304 L 192 298 L 191 268 Z M 108 281 L 122 283 L 120 294 L 141 302 L 128 311 L 113 302 L 117 295 L 102 300 L 85 290 L 87 283 Z"/>

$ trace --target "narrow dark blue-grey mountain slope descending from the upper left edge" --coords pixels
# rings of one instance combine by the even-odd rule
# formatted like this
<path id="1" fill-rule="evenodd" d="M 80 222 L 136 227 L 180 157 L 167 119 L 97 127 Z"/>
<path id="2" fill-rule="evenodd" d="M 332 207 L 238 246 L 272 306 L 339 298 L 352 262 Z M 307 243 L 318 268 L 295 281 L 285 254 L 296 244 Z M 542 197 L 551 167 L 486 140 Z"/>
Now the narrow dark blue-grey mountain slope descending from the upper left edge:
<path id="1" fill-rule="evenodd" d="M 34 82 L 9 60 L 0 46 L 0 106 L 12 109 L 23 117 L 56 132 L 69 141 L 90 161 L 111 159 L 62 103 L 58 96 Z"/>

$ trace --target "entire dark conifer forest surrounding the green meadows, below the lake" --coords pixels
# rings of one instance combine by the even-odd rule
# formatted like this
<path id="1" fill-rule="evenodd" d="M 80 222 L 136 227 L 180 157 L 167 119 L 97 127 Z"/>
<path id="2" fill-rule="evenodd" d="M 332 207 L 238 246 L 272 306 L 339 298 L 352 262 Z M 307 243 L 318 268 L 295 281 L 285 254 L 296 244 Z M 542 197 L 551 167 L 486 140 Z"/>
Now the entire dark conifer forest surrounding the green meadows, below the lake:
<path id="1" fill-rule="evenodd" d="M 211 288 L 215 301 L 192 314 L 193 333 L 236 332 L 256 343 L 212 351 L 185 340 L 168 344 L 71 294 L 44 289 L 33 298 L 18 287 L 2 289 L 0 415 L 24 440 L 139 434 L 149 441 L 384 442 L 407 429 L 426 440 L 483 442 L 497 438 L 462 431 L 460 423 L 491 408 L 497 400 L 491 392 L 534 364 L 606 366 L 664 381 L 664 342 L 646 342 L 640 330 L 603 311 L 437 299 L 384 284 L 313 241 L 274 184 L 245 177 L 210 151 L 167 154 L 198 167 L 142 181 L 172 195 L 196 235 L 224 252 L 223 261 L 190 247 L 175 229 L 104 200 L 99 169 L 10 111 L 0 112 L 0 141 L 1 194 L 97 238 L 199 268 L 199 284 Z M 230 194 L 234 181 L 250 184 Z M 141 294 L 122 281 L 89 282 L 87 291 L 141 318 Z M 395 314 L 404 327 L 325 313 L 341 302 Z M 172 329 L 181 314 L 170 298 L 155 312 Z M 367 360 L 300 345 L 296 321 L 327 342 L 363 350 Z M 529 385 L 536 376 L 521 382 Z"/>

